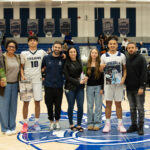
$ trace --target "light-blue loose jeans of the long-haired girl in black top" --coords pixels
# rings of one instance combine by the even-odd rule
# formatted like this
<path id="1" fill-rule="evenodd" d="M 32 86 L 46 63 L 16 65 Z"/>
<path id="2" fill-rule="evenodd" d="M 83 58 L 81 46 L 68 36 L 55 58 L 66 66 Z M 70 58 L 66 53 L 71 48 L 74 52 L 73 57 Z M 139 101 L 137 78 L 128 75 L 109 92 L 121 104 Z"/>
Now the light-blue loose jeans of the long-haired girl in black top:
<path id="1" fill-rule="evenodd" d="M 100 127 L 102 123 L 102 95 L 100 95 L 101 86 L 87 86 L 87 116 L 88 126 Z M 94 112 L 95 104 L 95 112 Z"/>

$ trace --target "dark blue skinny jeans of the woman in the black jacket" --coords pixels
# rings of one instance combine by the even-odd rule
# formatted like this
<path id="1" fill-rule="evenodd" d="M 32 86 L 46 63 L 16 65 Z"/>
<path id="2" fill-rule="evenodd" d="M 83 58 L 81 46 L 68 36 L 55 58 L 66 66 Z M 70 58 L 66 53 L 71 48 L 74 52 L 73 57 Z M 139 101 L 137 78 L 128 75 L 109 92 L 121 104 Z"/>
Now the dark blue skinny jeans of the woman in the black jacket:
<path id="1" fill-rule="evenodd" d="M 75 91 L 65 91 L 68 101 L 68 118 L 70 125 L 73 125 L 73 108 L 75 100 L 77 101 L 77 125 L 81 125 L 83 117 L 84 89 L 79 88 Z"/>

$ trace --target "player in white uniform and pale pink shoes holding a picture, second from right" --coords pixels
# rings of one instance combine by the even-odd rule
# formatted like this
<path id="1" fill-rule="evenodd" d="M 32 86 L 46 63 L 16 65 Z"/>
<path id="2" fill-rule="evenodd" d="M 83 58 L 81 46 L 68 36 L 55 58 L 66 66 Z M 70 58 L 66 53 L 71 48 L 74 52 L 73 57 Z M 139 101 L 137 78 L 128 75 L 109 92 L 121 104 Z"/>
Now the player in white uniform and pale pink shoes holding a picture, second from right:
<path id="1" fill-rule="evenodd" d="M 118 118 L 118 130 L 126 132 L 122 124 L 121 101 L 124 98 L 123 88 L 126 78 L 126 59 L 124 54 L 117 51 L 118 43 L 116 37 L 108 39 L 109 51 L 101 56 L 101 71 L 104 71 L 104 99 L 106 100 L 106 123 L 103 132 L 111 130 L 110 118 L 113 100 L 116 105 L 116 114 Z M 123 72 L 122 72 L 123 71 Z"/>

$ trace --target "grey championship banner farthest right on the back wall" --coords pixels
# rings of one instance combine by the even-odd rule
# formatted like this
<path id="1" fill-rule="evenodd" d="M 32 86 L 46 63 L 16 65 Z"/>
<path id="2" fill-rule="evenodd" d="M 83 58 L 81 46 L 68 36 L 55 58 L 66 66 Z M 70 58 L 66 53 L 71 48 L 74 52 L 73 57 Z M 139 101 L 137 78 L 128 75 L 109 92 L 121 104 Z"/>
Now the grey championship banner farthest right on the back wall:
<path id="1" fill-rule="evenodd" d="M 118 31 L 120 34 L 127 35 L 129 33 L 129 19 L 118 19 Z"/>

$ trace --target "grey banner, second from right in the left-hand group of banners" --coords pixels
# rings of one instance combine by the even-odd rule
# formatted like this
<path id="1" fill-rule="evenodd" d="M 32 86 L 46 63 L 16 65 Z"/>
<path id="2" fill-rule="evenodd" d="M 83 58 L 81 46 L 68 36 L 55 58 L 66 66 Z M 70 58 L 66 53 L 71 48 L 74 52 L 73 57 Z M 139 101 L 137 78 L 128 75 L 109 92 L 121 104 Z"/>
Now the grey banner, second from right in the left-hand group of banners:
<path id="1" fill-rule="evenodd" d="M 44 19 L 43 31 L 47 35 L 55 33 L 55 21 L 54 19 Z"/>

